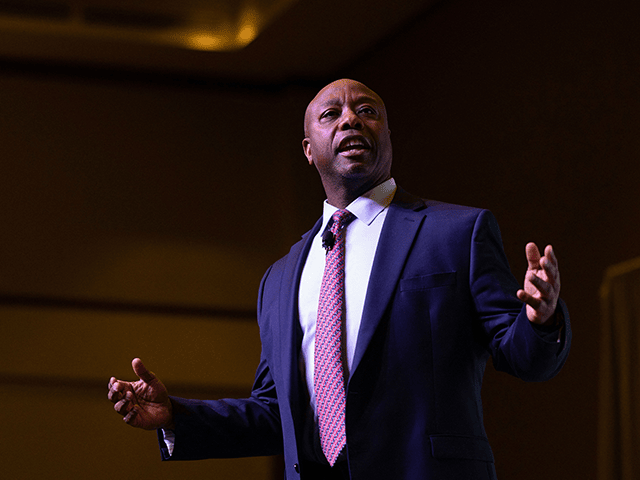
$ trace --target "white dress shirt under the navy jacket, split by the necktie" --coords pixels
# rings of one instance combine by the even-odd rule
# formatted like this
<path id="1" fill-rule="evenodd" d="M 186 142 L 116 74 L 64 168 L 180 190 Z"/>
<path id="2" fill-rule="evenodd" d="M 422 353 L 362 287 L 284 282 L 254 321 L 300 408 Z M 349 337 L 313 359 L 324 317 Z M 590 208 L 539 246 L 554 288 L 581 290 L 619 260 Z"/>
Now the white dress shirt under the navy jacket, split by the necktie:
<path id="1" fill-rule="evenodd" d="M 347 225 L 345 245 L 345 300 L 346 318 L 343 328 L 346 337 L 347 378 L 353 363 L 353 356 L 360 330 L 362 310 L 371 276 L 373 258 L 378 246 L 382 225 L 387 210 L 396 192 L 393 178 L 369 190 L 356 198 L 347 206 L 347 210 L 356 218 Z M 313 238 L 309 255 L 307 256 L 298 292 L 298 313 L 302 327 L 302 350 L 300 368 L 303 369 L 307 381 L 307 388 L 311 398 L 311 407 L 316 414 L 316 396 L 313 388 L 313 356 L 316 336 L 316 317 L 320 286 L 324 273 L 325 250 L 322 248 L 322 233 L 338 210 L 325 200 L 323 221 L 318 234 Z M 343 338 L 344 338 L 343 337 Z M 343 345 L 345 348 L 345 345 Z"/>

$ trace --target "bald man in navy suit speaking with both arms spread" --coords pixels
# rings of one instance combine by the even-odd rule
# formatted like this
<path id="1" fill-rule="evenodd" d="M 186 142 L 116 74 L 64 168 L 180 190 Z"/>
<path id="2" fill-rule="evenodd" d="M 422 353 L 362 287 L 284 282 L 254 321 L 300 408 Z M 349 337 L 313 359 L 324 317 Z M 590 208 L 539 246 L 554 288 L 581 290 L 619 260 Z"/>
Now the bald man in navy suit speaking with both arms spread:
<path id="1" fill-rule="evenodd" d="M 109 382 L 115 410 L 158 429 L 165 459 L 284 452 L 287 479 L 494 479 L 488 357 L 533 381 L 569 351 L 552 247 L 526 246 L 519 289 L 489 212 L 396 187 L 384 103 L 361 83 L 318 93 L 303 149 L 327 201 L 260 285 L 251 397 L 170 398 L 135 359 L 140 380 Z"/>

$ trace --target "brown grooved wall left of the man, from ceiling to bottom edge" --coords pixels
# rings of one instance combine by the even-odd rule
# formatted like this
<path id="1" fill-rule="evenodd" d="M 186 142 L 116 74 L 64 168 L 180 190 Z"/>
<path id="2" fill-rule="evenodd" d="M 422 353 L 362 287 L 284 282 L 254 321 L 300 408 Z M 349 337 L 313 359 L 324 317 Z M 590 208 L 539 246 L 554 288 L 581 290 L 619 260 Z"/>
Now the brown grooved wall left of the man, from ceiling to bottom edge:
<path id="1" fill-rule="evenodd" d="M 161 466 L 106 385 L 140 356 L 172 393 L 248 394 L 258 283 L 301 233 L 300 111 L 108 77 L 0 71 L 3 476 L 271 478 L 270 459 Z"/>

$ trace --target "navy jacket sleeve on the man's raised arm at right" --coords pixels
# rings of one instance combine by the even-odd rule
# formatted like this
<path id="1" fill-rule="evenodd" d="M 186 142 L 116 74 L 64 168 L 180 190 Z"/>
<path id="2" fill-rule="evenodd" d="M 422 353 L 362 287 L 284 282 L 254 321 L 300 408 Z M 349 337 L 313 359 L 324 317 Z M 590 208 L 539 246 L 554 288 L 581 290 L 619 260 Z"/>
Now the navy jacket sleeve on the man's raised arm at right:
<path id="1" fill-rule="evenodd" d="M 556 313 L 561 324 L 555 334 L 529 321 L 525 305 L 516 297 L 520 286 L 509 269 L 498 224 L 486 210 L 474 226 L 469 281 L 495 368 L 526 381 L 554 377 L 571 344 L 567 307 L 559 300 Z"/>

